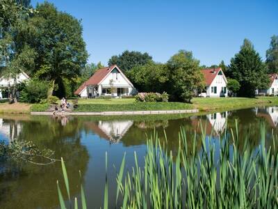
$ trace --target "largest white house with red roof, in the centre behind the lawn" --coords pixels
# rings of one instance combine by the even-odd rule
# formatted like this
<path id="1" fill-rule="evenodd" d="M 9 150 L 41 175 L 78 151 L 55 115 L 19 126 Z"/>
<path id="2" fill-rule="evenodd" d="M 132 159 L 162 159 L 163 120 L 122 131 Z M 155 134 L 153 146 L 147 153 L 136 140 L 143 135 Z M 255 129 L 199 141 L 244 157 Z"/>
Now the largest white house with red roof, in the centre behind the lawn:
<path id="1" fill-rule="evenodd" d="M 101 68 L 85 81 L 74 92 L 81 98 L 96 98 L 100 95 L 110 95 L 120 98 L 122 95 L 133 95 L 136 89 L 117 65 Z"/>

